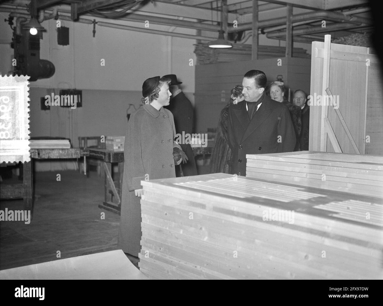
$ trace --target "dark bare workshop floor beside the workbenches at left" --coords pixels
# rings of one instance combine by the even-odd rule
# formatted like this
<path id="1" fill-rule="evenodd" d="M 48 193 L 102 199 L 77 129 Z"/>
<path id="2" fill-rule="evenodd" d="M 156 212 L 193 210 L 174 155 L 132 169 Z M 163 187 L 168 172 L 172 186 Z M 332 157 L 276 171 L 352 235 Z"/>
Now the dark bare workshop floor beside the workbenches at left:
<path id="1" fill-rule="evenodd" d="M 198 166 L 206 174 L 209 166 Z M 0 222 L 0 270 L 117 249 L 119 215 L 101 210 L 104 181 L 97 172 L 34 173 L 34 213 L 30 224 Z M 0 209 L 23 210 L 23 200 L 5 200 Z M 105 212 L 105 219 L 101 219 Z M 138 268 L 137 257 L 127 255 Z"/>

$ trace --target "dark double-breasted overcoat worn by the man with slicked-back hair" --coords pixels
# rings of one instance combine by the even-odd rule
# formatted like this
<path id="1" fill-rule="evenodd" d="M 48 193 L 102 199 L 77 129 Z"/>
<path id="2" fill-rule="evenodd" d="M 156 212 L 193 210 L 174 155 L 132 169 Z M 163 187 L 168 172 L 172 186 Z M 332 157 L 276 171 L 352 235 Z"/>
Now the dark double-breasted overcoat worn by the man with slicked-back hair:
<path id="1" fill-rule="evenodd" d="M 251 121 L 246 101 L 229 107 L 228 140 L 233 153 L 232 174 L 246 175 L 246 154 L 294 150 L 296 137 L 287 107 L 265 93 L 260 100 L 262 104 Z"/>

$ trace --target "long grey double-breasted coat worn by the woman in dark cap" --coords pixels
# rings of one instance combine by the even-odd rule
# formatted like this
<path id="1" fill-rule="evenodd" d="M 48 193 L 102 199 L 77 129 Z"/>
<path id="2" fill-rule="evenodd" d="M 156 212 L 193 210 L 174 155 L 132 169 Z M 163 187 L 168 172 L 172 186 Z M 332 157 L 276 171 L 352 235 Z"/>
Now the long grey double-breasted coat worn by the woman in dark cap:
<path id="1" fill-rule="evenodd" d="M 158 111 L 150 104 L 134 112 L 125 137 L 124 173 L 121 196 L 121 221 L 118 248 L 138 256 L 141 252 L 141 180 L 175 178 L 173 146 L 175 127 L 172 113 Z M 179 146 L 178 146 L 179 147 Z"/>

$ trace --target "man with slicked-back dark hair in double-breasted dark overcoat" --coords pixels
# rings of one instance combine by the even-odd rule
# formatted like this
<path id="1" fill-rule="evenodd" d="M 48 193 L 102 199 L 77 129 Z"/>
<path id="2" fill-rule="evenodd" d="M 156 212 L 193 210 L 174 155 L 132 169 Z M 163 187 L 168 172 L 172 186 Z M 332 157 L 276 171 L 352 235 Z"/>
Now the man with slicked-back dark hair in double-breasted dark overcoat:
<path id="1" fill-rule="evenodd" d="M 287 107 L 265 94 L 266 75 L 248 71 L 242 81 L 244 100 L 229 107 L 228 140 L 232 174 L 246 175 L 246 154 L 291 152 L 296 143 Z"/>

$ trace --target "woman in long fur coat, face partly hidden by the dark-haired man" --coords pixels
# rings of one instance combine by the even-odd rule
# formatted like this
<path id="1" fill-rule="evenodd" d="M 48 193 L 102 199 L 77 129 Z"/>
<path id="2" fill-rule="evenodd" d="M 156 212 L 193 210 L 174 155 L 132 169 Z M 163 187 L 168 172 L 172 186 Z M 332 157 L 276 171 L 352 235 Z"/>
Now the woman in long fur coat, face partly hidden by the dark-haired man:
<path id="1" fill-rule="evenodd" d="M 210 173 L 230 173 L 232 155 L 228 143 L 228 112 L 230 105 L 237 104 L 244 99 L 242 89 L 242 85 L 234 86 L 231 90 L 231 100 L 219 115 L 217 135 L 211 151 Z"/>

